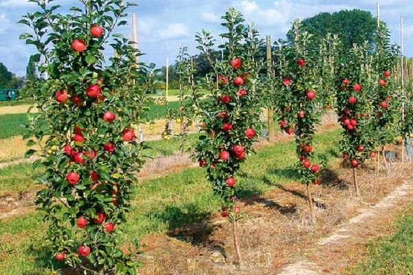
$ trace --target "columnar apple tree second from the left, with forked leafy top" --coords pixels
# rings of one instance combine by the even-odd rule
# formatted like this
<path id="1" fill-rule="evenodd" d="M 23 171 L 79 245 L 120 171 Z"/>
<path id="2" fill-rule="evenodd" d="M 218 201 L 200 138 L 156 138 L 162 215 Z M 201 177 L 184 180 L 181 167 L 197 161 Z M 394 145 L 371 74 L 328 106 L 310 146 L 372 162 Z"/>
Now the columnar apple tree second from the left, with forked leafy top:
<path id="1" fill-rule="evenodd" d="M 257 63 L 253 58 L 258 51 L 254 45 L 260 43 L 260 39 L 251 25 L 242 24 L 244 19 L 239 11 L 231 8 L 222 19 L 227 29 L 222 34 L 226 39 L 224 61 L 215 63 L 211 58 L 215 43 L 211 33 L 203 30 L 196 36 L 200 43 L 198 49 L 208 56 L 218 76 L 218 89 L 211 83 L 211 95 L 201 105 L 203 129 L 195 151 L 200 166 L 207 169 L 214 193 L 222 198 L 222 217 L 233 221 L 235 250 L 241 261 L 236 235 L 236 221 L 240 216 L 237 172 L 253 151 L 252 144 L 257 137 L 260 107 L 256 102 Z"/>

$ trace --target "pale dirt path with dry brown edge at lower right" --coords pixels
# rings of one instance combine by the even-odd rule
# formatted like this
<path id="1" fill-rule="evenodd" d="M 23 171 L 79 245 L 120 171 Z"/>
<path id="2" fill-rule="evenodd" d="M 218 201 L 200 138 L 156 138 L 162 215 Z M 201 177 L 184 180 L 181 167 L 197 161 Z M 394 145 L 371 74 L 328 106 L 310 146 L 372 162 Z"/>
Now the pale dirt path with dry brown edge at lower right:
<path id="1" fill-rule="evenodd" d="M 361 254 L 354 249 L 371 239 L 385 234 L 385 225 L 395 213 L 413 202 L 413 181 L 406 181 L 374 206 L 360 210 L 360 214 L 339 226 L 330 236 L 299 257 L 297 262 L 284 267 L 278 275 L 341 274 Z M 353 256 L 351 256 L 353 255 Z"/>

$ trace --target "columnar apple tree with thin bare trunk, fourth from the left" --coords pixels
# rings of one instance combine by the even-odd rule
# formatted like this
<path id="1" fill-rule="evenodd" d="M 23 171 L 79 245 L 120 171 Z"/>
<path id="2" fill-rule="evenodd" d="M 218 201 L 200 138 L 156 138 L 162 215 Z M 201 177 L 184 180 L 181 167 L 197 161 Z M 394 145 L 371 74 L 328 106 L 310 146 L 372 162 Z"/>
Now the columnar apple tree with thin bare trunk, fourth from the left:
<path id="1" fill-rule="evenodd" d="M 372 58 L 370 46 L 354 45 L 343 54 L 337 69 L 337 114 L 343 127 L 340 141 L 343 159 L 353 169 L 354 188 L 357 185 L 357 167 L 371 154 L 376 138 L 371 127 L 371 95 L 377 87 L 372 76 Z"/>

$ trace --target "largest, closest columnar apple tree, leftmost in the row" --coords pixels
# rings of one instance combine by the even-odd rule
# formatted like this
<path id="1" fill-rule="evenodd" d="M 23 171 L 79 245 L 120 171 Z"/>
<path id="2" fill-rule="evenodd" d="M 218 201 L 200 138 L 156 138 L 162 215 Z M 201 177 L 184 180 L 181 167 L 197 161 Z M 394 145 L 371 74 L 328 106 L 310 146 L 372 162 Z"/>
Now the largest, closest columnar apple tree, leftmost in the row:
<path id="1" fill-rule="evenodd" d="M 135 83 L 145 83 L 146 75 L 127 39 L 111 37 L 126 24 L 130 4 L 80 1 L 59 14 L 51 0 L 34 2 L 39 11 L 21 20 L 32 31 L 21 39 L 39 51 L 43 76 L 32 85 L 40 114 L 30 129 L 42 148 L 35 165 L 46 169 L 36 202 L 49 225 L 48 250 L 85 272 L 135 274 L 131 255 L 118 244 L 134 174 L 144 163 L 131 124 L 140 112 L 138 95 L 145 94 L 145 84 Z M 105 62 L 105 49 L 116 57 Z"/>

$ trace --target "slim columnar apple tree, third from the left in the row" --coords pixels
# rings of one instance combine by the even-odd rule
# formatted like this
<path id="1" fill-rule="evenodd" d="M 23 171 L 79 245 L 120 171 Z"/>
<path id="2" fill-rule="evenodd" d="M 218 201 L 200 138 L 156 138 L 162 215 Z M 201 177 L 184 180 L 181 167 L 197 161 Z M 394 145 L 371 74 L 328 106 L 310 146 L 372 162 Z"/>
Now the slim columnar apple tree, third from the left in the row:
<path id="1" fill-rule="evenodd" d="M 301 23 L 293 23 L 293 45 L 284 46 L 275 52 L 278 62 L 275 72 L 279 73 L 279 97 L 275 104 L 279 110 L 279 126 L 289 135 L 295 133 L 297 144 L 297 164 L 301 182 L 306 184 L 308 203 L 312 217 L 315 217 L 310 184 L 319 184 L 319 165 L 312 163 L 313 136 L 315 123 L 319 119 L 321 102 L 317 96 L 317 66 L 315 55 L 308 50 L 311 45 L 310 34 L 302 32 Z"/>

